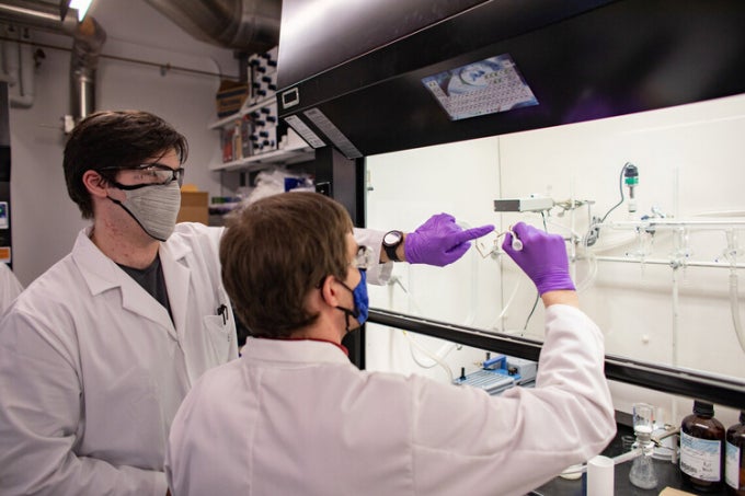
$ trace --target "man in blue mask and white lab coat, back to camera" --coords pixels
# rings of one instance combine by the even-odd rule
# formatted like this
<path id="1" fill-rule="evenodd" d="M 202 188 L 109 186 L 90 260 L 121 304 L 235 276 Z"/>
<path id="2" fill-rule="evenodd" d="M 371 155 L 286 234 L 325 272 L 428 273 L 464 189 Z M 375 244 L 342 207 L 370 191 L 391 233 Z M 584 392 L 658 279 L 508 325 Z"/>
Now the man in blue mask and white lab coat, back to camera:
<path id="1" fill-rule="evenodd" d="M 339 204 L 299 193 L 244 209 L 220 261 L 254 337 L 182 403 L 173 494 L 523 495 L 600 452 L 616 431 L 603 335 L 576 308 L 561 237 L 514 233 L 522 251 L 513 234 L 503 247 L 541 295 L 546 342 L 535 389 L 490 396 L 349 365 L 341 342 L 367 316 L 370 258 Z"/>

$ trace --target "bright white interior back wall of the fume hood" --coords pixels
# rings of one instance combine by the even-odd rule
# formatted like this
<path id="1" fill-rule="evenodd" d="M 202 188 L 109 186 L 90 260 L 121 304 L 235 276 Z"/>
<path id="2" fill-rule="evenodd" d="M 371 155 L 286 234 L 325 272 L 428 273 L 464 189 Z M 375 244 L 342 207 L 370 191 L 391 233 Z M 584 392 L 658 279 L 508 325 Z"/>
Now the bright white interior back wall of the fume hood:
<path id="1" fill-rule="evenodd" d="M 626 162 L 639 168 L 638 212 L 630 215 L 627 203 L 608 216 L 611 221 L 639 219 L 653 206 L 675 219 L 745 221 L 742 166 L 745 140 L 745 95 L 686 105 L 572 126 L 519 132 L 438 146 L 368 159 L 368 224 L 387 229 L 413 229 L 428 215 L 451 212 L 471 226 L 494 223 L 498 230 L 519 220 L 542 228 L 538 214 L 497 214 L 496 198 L 550 196 L 557 201 L 574 198 L 592 200 L 592 214 L 603 216 L 620 199 L 619 174 Z M 627 189 L 624 188 L 624 194 Z M 727 217 L 703 217 L 704 212 L 737 211 Z M 583 235 L 588 227 L 588 209 L 559 217 L 553 209 L 548 229 L 565 237 L 571 230 Z M 606 334 L 607 353 L 630 356 L 655 364 L 668 364 L 745 379 L 745 351 L 736 338 L 730 309 L 730 274 L 723 268 L 687 267 L 673 270 L 667 265 L 673 253 L 689 253 L 687 262 L 722 261 L 726 229 L 688 228 L 677 234 L 686 240 L 676 249 L 673 231 L 658 231 L 649 253 L 633 258 L 638 237 L 633 230 L 603 229 L 598 243 L 586 255 L 577 247 L 575 281 L 581 284 L 584 310 Z M 738 262 L 745 263 L 745 229 L 740 238 Z M 685 249 L 685 250 L 684 250 Z M 570 246 L 571 250 L 571 246 Z M 634 263 L 598 262 L 600 256 L 618 256 Z M 595 257 L 595 264 L 592 262 Z M 505 257 L 506 258 L 506 257 Z M 502 267 L 502 269 L 501 269 Z M 592 267 L 596 267 L 596 275 Z M 370 288 L 373 305 L 393 308 L 435 320 L 470 323 L 481 328 L 502 330 L 542 338 L 543 309 L 539 303 L 523 326 L 535 302 L 536 292 L 527 278 L 508 259 L 482 258 L 475 250 L 446 268 L 396 267 L 402 284 Z M 743 303 L 745 272 L 740 280 L 737 301 Z M 497 319 L 513 292 L 516 297 Z M 677 295 L 676 295 L 677 292 Z M 677 304 L 674 303 L 677 298 Z M 413 303 L 415 301 L 415 304 Z M 745 313 L 745 304 L 742 304 Z M 442 367 L 423 369 L 410 356 L 400 331 L 370 326 L 367 360 L 374 369 L 425 373 L 447 380 Z M 442 348 L 443 342 L 414 336 L 432 351 L 449 351 L 446 359 L 458 373 L 460 367 L 473 370 L 481 351 Z M 420 357 L 421 354 L 417 355 Z M 475 357 L 475 359 L 474 359 Z M 420 361 L 431 365 L 432 361 Z M 650 401 L 661 407 L 663 420 L 678 423 L 690 413 L 690 399 L 676 399 L 626 384 L 612 384 L 616 407 L 629 411 L 634 401 Z M 719 407 L 718 417 L 734 423 L 737 412 Z"/>

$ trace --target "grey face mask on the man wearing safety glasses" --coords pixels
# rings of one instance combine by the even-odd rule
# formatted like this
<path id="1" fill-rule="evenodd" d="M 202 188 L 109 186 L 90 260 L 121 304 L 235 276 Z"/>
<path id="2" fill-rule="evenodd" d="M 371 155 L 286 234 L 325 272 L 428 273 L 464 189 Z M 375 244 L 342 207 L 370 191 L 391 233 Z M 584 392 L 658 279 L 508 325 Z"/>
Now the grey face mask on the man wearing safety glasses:
<path id="1" fill-rule="evenodd" d="M 176 217 L 181 208 L 181 187 L 176 181 L 169 184 L 145 184 L 136 188 L 131 186 L 116 187 L 124 191 L 124 201 L 108 197 L 124 208 L 142 230 L 158 241 L 169 239 L 176 226 Z"/>

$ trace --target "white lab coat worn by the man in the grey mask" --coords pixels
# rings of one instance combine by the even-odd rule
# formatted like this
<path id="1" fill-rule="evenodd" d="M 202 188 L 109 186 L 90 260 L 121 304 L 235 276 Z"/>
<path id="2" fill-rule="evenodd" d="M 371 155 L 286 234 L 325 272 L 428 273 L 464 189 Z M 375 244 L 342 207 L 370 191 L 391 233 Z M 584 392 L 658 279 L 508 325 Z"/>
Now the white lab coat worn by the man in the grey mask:
<path id="1" fill-rule="evenodd" d="M 181 401 L 207 369 L 238 356 L 220 280 L 222 232 L 180 223 L 161 243 L 173 322 L 88 229 L 9 309 L 0 322 L 0 495 L 165 494 L 164 450 Z M 379 256 L 381 232 L 355 234 Z M 390 270 L 371 270 L 373 281 Z"/>

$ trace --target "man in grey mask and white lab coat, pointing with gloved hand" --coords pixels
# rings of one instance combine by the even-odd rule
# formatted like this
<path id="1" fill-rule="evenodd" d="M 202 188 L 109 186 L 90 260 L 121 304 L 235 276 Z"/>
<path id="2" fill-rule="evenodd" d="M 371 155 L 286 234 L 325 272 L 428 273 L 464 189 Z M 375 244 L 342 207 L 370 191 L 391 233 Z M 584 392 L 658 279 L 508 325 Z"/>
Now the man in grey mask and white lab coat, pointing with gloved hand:
<path id="1" fill-rule="evenodd" d="M 3 496 L 167 494 L 176 408 L 205 371 L 238 357 L 224 230 L 175 223 L 186 153 L 145 112 L 92 114 L 71 132 L 68 193 L 92 223 L 0 322 Z M 434 216 L 391 256 L 445 265 L 489 228 Z M 382 233 L 362 234 L 388 259 Z"/>

